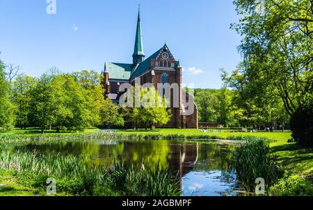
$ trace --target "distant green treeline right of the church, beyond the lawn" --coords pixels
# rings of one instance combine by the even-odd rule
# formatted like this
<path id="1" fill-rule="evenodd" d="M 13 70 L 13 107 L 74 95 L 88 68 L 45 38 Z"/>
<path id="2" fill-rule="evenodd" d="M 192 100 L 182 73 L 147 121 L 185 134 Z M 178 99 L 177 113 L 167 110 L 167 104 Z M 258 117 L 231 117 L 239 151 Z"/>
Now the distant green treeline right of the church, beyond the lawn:
<path id="1" fill-rule="evenodd" d="M 194 89 L 199 121 L 218 123 L 224 127 L 283 128 L 289 116 L 279 97 L 268 104 L 246 100 L 240 91 L 222 89 Z"/>

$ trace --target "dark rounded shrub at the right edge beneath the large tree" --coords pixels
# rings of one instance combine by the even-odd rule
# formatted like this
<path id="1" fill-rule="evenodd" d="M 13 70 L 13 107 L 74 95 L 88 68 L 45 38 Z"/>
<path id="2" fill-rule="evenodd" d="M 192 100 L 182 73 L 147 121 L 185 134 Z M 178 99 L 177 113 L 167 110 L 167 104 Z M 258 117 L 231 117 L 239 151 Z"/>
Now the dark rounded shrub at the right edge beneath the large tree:
<path id="1" fill-rule="evenodd" d="M 292 137 L 302 146 L 313 146 L 313 103 L 298 108 L 290 119 Z"/>

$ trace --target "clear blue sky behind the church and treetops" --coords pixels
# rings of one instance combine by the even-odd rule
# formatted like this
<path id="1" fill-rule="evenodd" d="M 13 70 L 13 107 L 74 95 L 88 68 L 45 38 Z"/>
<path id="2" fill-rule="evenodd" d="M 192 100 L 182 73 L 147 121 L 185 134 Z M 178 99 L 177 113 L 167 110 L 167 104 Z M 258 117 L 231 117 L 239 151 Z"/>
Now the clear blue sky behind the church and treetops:
<path id="1" fill-rule="evenodd" d="M 31 76 L 131 63 L 138 3 L 145 55 L 166 40 L 184 83 L 220 88 L 219 69 L 232 71 L 240 61 L 232 0 L 56 0 L 56 15 L 47 15 L 46 0 L 0 0 L 0 60 Z"/>

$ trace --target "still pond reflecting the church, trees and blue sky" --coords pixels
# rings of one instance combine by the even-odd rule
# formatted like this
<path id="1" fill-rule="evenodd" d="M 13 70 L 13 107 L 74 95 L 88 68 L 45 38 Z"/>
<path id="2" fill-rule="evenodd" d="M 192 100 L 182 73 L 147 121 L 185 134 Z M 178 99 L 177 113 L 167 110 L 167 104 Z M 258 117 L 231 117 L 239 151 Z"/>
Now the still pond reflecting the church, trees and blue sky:
<path id="1" fill-rule="evenodd" d="M 89 164 L 111 167 L 114 160 L 125 165 L 162 168 L 177 173 L 182 195 L 236 195 L 234 174 L 227 173 L 227 159 L 234 144 L 212 141 L 74 141 L 16 146 L 15 150 L 45 154 L 88 156 Z"/>

